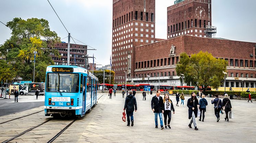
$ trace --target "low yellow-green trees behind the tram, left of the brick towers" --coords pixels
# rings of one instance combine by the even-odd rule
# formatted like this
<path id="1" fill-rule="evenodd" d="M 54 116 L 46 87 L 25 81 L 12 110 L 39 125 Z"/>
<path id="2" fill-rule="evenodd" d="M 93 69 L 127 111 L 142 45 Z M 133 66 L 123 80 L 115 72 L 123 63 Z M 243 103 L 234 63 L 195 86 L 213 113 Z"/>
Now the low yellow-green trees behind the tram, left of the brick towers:
<path id="1" fill-rule="evenodd" d="M 91 71 L 92 72 L 92 71 Z M 93 74 L 98 77 L 99 83 L 103 83 L 104 71 L 93 71 Z M 115 72 L 111 71 L 111 84 L 114 84 Z M 109 84 L 109 70 L 105 70 L 105 83 Z"/>

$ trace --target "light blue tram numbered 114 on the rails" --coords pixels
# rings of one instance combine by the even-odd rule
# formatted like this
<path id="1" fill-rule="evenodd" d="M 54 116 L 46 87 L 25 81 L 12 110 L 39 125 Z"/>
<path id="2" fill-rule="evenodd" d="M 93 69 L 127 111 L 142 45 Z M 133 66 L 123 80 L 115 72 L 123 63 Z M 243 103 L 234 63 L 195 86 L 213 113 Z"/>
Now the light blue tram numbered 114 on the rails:
<path id="1" fill-rule="evenodd" d="M 84 116 L 96 104 L 98 78 L 77 66 L 46 69 L 45 116 Z"/>

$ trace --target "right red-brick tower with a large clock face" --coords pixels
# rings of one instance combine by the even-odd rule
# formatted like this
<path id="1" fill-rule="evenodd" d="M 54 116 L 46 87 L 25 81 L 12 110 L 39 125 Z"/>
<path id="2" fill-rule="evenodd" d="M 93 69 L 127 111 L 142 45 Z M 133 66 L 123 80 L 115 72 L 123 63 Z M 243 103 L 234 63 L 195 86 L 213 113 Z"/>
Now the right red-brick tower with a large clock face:
<path id="1" fill-rule="evenodd" d="M 167 39 L 188 34 L 212 38 L 211 0 L 176 0 L 167 8 Z"/>

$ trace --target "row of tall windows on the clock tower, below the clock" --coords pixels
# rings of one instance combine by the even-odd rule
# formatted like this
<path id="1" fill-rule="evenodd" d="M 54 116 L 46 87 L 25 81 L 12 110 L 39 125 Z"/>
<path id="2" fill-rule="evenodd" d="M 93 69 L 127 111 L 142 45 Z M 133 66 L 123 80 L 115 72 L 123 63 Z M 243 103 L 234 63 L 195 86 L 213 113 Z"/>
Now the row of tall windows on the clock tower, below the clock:
<path id="1" fill-rule="evenodd" d="M 171 25 L 171 26 L 168 26 L 168 33 L 170 33 L 170 31 L 171 31 L 171 33 L 172 32 L 175 32 L 175 31 L 179 31 L 179 30 L 183 30 L 183 29 L 186 29 L 186 28 L 189 28 L 190 27 L 190 22 L 191 22 L 191 27 L 193 27 L 193 19 L 191 19 L 191 20 L 187 20 L 187 21 L 185 21 L 185 23 L 184 22 L 182 22 L 182 23 L 177 23 L 176 25 L 174 24 L 174 25 Z M 197 25 L 198 24 L 198 22 L 199 22 L 199 25 Z M 208 23 L 209 23 L 210 21 L 208 21 Z M 206 28 L 206 20 L 203 20 L 203 28 Z M 197 27 L 197 26 L 199 26 L 200 28 L 202 27 L 202 21 L 201 21 L 201 19 L 195 19 L 195 26 L 194 27 Z"/>

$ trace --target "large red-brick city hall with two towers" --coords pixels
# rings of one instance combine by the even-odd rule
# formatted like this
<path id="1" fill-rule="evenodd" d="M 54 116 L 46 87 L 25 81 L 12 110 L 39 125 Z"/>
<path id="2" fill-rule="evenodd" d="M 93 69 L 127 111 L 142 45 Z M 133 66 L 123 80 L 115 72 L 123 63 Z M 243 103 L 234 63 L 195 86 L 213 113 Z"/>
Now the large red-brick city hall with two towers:
<path id="1" fill-rule="evenodd" d="M 226 87 L 256 87 L 256 43 L 214 38 L 217 29 L 211 26 L 211 0 L 176 0 L 169 6 L 166 40 L 154 38 L 154 3 L 113 0 L 112 70 L 116 76 L 125 76 L 127 72 L 127 81 L 133 84 L 179 86 L 181 80 L 175 70 L 179 55 L 203 51 L 228 61 Z M 125 12 L 128 21 L 124 25 Z M 129 48 L 124 45 L 126 40 L 132 45 Z M 125 79 L 115 78 L 115 82 L 124 83 Z"/>

